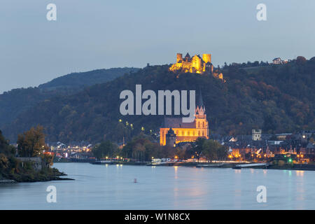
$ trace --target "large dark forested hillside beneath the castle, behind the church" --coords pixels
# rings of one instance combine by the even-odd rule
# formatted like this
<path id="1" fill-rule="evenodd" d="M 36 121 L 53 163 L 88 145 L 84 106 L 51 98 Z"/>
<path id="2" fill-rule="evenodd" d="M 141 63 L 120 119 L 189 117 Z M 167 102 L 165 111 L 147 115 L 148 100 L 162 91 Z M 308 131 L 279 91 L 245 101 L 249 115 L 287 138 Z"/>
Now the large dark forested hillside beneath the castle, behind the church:
<path id="1" fill-rule="evenodd" d="M 143 91 L 201 88 L 211 134 L 249 134 L 253 128 L 264 132 L 315 128 L 314 59 L 251 68 L 225 66 L 225 83 L 211 75 L 174 74 L 168 67 L 148 66 L 77 94 L 46 100 L 6 125 L 3 134 L 15 140 L 18 133 L 40 124 L 48 141 L 121 142 L 123 137 L 128 140 L 141 132 L 141 127 L 146 133 L 158 131 L 162 116 L 120 115 L 120 92 L 134 92 L 136 84 L 142 84 Z"/>

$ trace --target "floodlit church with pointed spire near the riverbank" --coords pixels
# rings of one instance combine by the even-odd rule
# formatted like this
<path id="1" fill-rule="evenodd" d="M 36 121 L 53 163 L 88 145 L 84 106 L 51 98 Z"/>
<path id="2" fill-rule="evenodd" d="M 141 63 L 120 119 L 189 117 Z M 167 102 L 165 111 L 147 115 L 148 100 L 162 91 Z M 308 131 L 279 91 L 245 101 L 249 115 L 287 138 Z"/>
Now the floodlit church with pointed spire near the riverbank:
<path id="1" fill-rule="evenodd" d="M 160 145 L 174 146 L 179 142 L 196 141 L 199 137 L 209 139 L 209 124 L 201 92 L 192 123 L 183 123 L 182 118 L 164 118 L 160 128 Z"/>

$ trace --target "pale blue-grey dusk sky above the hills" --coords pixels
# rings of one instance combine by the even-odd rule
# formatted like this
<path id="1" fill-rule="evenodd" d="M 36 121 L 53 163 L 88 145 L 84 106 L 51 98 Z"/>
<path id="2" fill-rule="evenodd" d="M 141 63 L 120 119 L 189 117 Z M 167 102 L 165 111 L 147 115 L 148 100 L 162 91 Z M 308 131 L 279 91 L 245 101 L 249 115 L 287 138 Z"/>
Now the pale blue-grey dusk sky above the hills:
<path id="1" fill-rule="evenodd" d="M 57 21 L 46 19 L 55 3 Z M 256 19 L 265 3 L 267 21 Z M 224 62 L 315 56 L 315 1 L 1 0 L 0 93 L 73 71 L 170 64 L 176 52 Z"/>

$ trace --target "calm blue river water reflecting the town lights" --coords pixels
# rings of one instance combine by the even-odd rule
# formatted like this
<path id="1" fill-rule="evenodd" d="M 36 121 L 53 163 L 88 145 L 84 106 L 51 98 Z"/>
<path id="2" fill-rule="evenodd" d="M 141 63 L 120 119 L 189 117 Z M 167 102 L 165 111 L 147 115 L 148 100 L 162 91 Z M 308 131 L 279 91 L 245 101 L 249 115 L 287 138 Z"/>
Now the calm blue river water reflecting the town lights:
<path id="1" fill-rule="evenodd" d="M 315 172 L 56 163 L 75 181 L 0 185 L 0 209 L 315 209 Z M 137 183 L 134 183 L 137 179 Z M 48 203 L 48 186 L 57 202 Z M 258 186 L 267 202 L 258 203 Z"/>

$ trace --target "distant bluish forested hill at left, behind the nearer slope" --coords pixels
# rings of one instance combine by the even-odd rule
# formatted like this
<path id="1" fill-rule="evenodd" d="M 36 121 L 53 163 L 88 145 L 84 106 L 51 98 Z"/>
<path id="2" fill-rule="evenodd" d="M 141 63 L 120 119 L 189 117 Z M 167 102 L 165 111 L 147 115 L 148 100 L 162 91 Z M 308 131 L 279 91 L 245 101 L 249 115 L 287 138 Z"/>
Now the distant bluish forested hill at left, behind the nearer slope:
<path id="1" fill-rule="evenodd" d="M 20 88 L 0 94 L 0 128 L 11 123 L 27 109 L 51 97 L 74 94 L 83 87 L 123 76 L 125 73 L 138 71 L 134 68 L 99 69 L 94 71 L 70 73 L 55 78 L 38 87 Z"/>

